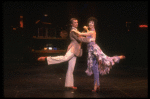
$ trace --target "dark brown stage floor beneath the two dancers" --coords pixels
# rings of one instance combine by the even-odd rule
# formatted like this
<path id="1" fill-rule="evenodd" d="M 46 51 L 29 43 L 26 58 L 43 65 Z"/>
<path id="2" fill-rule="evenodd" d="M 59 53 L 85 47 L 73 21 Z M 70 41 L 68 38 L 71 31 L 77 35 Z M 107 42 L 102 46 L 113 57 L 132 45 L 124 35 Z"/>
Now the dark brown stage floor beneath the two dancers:
<path id="1" fill-rule="evenodd" d="M 145 66 L 146 67 L 146 66 Z M 66 90 L 67 63 L 4 63 L 5 98 L 145 98 L 148 97 L 148 69 L 115 65 L 109 75 L 100 76 L 100 91 L 93 93 L 93 75 L 85 74 L 86 63 L 74 70 L 77 90 Z"/>

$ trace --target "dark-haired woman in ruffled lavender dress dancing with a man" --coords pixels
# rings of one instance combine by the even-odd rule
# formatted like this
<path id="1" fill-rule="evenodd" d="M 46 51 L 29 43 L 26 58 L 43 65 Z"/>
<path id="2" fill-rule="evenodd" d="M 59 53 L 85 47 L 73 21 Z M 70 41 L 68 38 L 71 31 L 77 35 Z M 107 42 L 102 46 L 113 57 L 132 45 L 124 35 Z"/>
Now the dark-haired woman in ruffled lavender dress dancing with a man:
<path id="1" fill-rule="evenodd" d="M 83 28 L 87 30 L 87 33 L 81 33 L 76 30 L 72 30 L 80 36 L 86 36 L 87 38 L 96 39 L 96 31 L 95 26 L 97 23 L 97 19 L 95 17 L 90 17 L 88 19 L 88 27 L 84 26 Z M 113 56 L 109 57 L 104 54 L 101 48 L 94 42 L 90 42 L 87 44 L 88 49 L 88 58 L 87 58 L 87 70 L 85 71 L 88 76 L 91 76 L 94 73 L 94 90 L 96 92 L 100 89 L 99 82 L 99 73 L 101 75 L 108 74 L 111 67 L 115 64 L 115 62 L 119 62 L 120 59 L 124 59 L 125 56 Z"/>

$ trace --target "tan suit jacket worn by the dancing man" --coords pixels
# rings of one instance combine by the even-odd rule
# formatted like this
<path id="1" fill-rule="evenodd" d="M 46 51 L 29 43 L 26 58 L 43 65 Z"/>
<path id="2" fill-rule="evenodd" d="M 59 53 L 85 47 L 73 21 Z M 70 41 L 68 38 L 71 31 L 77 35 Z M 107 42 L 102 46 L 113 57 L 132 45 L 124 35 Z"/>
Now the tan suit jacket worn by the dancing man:
<path id="1" fill-rule="evenodd" d="M 81 42 L 89 43 L 90 38 L 78 37 L 76 33 L 70 31 L 70 40 L 71 43 L 69 44 L 67 51 L 71 49 L 71 52 L 74 53 L 75 56 L 81 57 L 82 56 Z"/>

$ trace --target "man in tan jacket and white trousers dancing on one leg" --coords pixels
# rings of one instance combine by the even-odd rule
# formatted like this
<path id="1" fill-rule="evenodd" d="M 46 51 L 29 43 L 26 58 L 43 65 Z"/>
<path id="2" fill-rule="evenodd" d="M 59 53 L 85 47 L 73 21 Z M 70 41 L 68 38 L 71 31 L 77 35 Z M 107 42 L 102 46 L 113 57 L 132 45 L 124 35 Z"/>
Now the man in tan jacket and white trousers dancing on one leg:
<path id="1" fill-rule="evenodd" d="M 38 61 L 47 61 L 48 65 L 68 61 L 68 70 L 66 73 L 65 87 L 77 89 L 77 87 L 74 87 L 73 71 L 76 64 L 76 58 L 82 56 L 81 42 L 89 43 L 91 41 L 94 41 L 94 39 L 86 37 L 78 37 L 75 34 L 75 32 L 72 31 L 72 29 L 77 30 L 78 20 L 76 18 L 71 18 L 70 22 L 72 26 L 70 31 L 71 43 L 68 46 L 67 53 L 65 54 L 65 56 L 39 57 Z"/>

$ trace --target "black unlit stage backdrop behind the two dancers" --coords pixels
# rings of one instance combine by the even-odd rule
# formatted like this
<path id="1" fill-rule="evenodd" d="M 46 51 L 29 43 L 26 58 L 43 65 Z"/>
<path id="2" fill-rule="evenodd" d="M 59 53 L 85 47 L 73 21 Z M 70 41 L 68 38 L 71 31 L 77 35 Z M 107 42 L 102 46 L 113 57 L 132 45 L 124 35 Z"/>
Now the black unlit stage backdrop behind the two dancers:
<path id="1" fill-rule="evenodd" d="M 48 14 L 44 18 L 44 14 Z M 147 66 L 148 64 L 148 28 L 139 28 L 148 24 L 148 1 L 116 2 L 2 2 L 3 22 L 3 59 L 10 61 L 32 61 L 31 50 L 37 35 L 37 20 L 52 23 L 57 37 L 61 30 L 69 32 L 69 20 L 75 17 L 79 21 L 78 29 L 83 30 L 87 19 L 94 16 L 98 19 L 97 44 L 108 56 L 125 55 L 124 64 Z M 19 28 L 19 17 L 23 15 L 24 28 Z M 126 22 L 131 22 L 128 31 Z M 12 27 L 18 27 L 16 31 Z M 45 42 L 45 41 L 44 41 Z M 39 42 L 37 45 L 42 44 Z M 55 41 L 54 41 L 55 43 Z M 62 46 L 63 44 L 60 44 Z M 64 44 L 67 49 L 67 44 Z M 86 44 L 82 44 L 83 56 L 86 57 Z"/>

